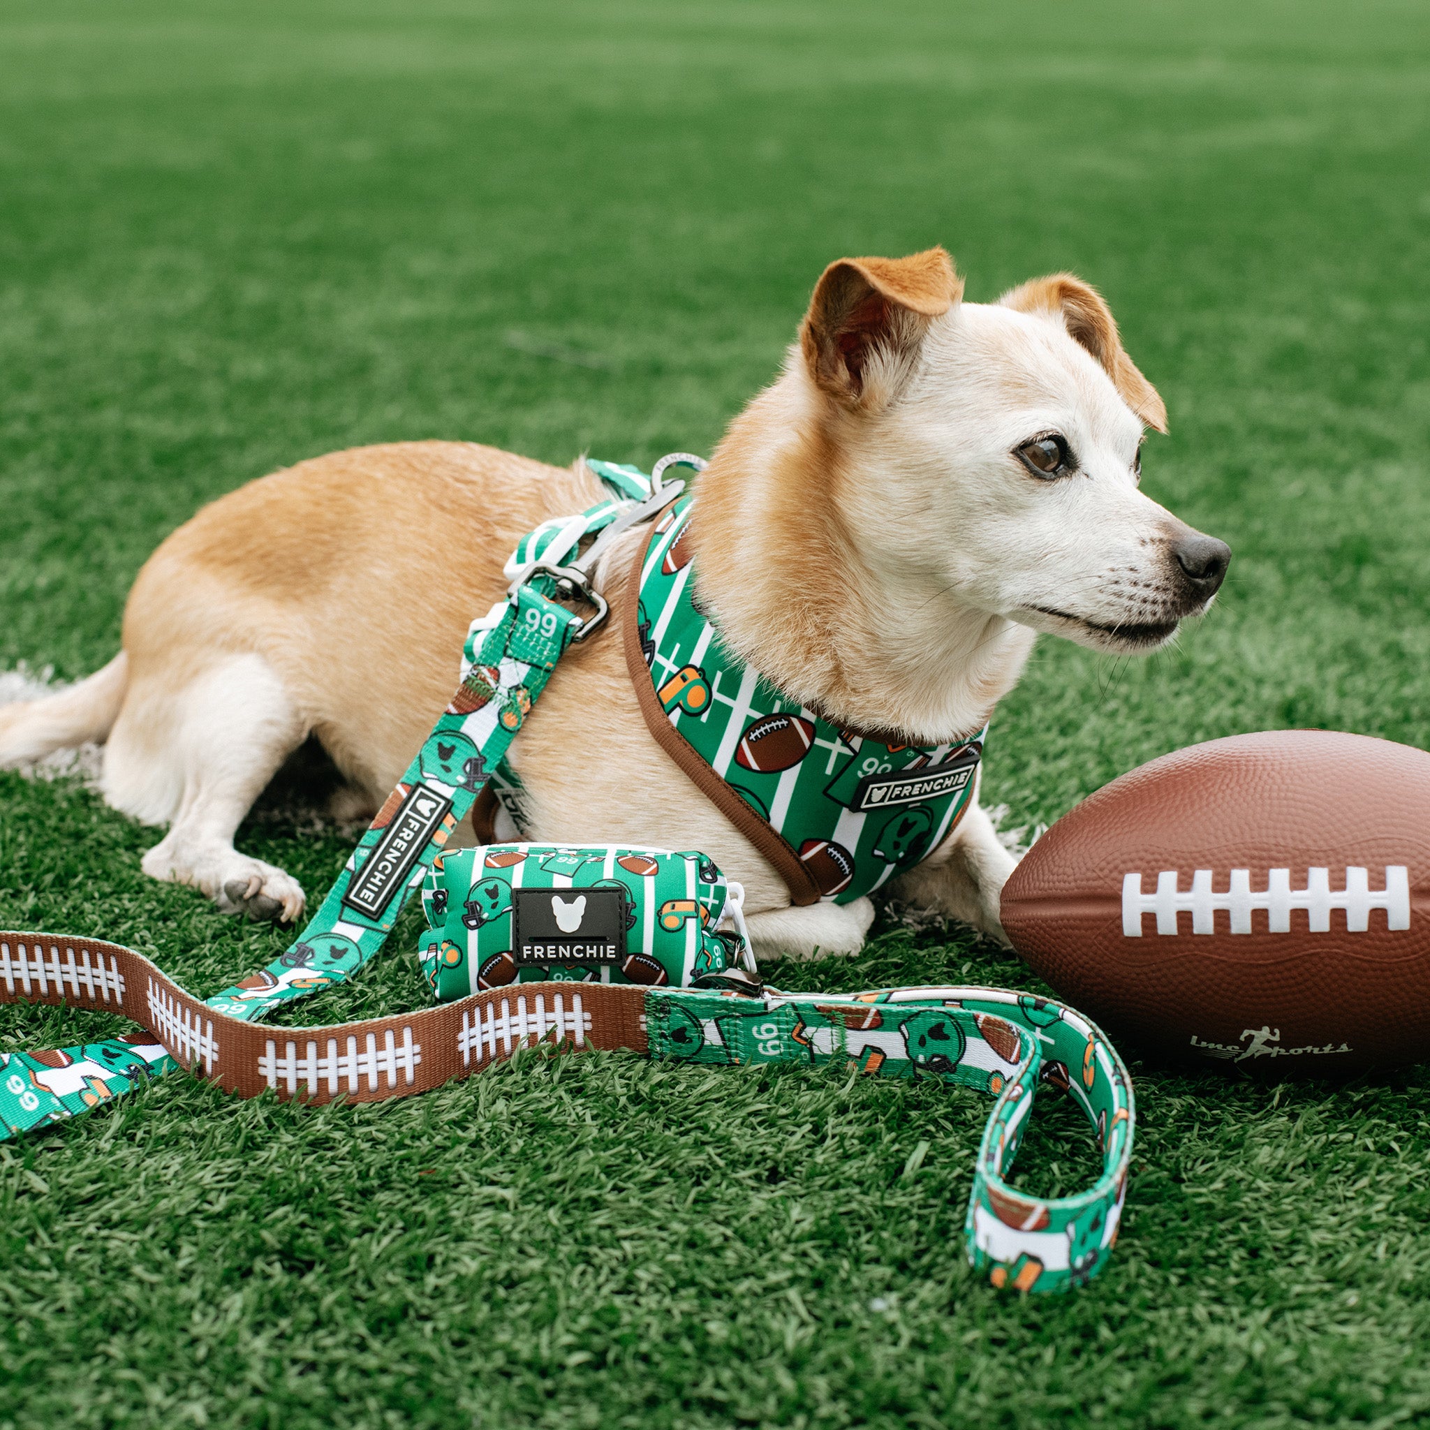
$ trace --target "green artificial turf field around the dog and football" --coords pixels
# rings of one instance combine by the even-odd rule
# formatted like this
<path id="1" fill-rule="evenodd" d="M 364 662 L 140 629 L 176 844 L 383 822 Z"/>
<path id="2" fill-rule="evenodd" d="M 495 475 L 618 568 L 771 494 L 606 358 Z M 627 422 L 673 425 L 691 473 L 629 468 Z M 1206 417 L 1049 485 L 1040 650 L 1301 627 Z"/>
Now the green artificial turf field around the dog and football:
<path id="1" fill-rule="evenodd" d="M 1147 489 L 1236 551 L 1171 652 L 1044 644 L 990 802 L 1051 821 L 1267 726 L 1430 745 L 1423 0 L 0 0 L 0 669 L 99 666 L 153 546 L 305 456 L 706 450 L 828 260 L 942 242 L 975 299 L 1103 287 L 1171 412 Z M 320 892 L 347 845 L 286 808 L 240 844 Z M 200 992 L 283 944 L 143 878 L 153 839 L 0 775 L 0 927 Z M 412 935 L 303 1017 L 419 1002 Z M 784 977 L 1032 985 L 888 914 Z M 619 1054 L 320 1111 L 169 1077 L 0 1147 L 0 1430 L 1430 1421 L 1423 1070 L 1134 1072 L 1117 1253 L 1040 1300 L 965 1270 L 971 1095 Z M 1035 1127 L 1030 1187 L 1088 1175 L 1071 1113 Z"/>

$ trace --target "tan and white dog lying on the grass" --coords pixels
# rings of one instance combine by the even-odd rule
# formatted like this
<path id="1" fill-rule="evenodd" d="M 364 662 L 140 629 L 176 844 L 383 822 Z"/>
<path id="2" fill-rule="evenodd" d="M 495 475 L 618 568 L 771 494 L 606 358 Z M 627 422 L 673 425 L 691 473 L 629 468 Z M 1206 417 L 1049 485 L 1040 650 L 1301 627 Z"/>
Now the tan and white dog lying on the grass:
<path id="1" fill-rule="evenodd" d="M 726 644 L 831 719 L 921 742 L 977 729 L 1045 631 L 1153 649 L 1204 611 L 1230 552 L 1138 490 L 1155 389 L 1103 299 L 1068 275 L 964 303 L 942 249 L 842 259 L 779 379 L 698 482 L 699 593 Z M 456 682 L 473 613 L 538 522 L 602 496 L 569 469 L 463 442 L 300 462 L 206 506 L 144 565 L 123 651 L 60 695 L 0 709 L 0 765 L 106 741 L 112 805 L 169 825 L 147 874 L 225 909 L 296 919 L 302 888 L 233 847 L 316 735 L 373 811 Z M 521 837 L 699 848 L 746 888 L 756 950 L 852 952 L 867 898 L 791 907 L 784 882 L 655 744 L 609 628 L 573 646 L 513 744 Z M 502 831 L 516 837 L 516 831 Z M 974 808 L 894 892 L 1001 937 L 1012 859 Z"/>

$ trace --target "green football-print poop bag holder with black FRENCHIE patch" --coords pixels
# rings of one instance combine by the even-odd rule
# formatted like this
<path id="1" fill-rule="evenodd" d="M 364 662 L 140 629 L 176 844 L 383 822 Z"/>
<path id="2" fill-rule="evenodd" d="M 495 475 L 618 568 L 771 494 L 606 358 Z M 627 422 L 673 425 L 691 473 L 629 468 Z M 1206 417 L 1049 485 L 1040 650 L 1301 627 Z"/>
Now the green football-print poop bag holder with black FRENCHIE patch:
<path id="1" fill-rule="evenodd" d="M 418 945 L 439 1002 L 513 982 L 689 987 L 744 968 L 744 889 L 695 849 L 489 844 L 439 855 Z"/>

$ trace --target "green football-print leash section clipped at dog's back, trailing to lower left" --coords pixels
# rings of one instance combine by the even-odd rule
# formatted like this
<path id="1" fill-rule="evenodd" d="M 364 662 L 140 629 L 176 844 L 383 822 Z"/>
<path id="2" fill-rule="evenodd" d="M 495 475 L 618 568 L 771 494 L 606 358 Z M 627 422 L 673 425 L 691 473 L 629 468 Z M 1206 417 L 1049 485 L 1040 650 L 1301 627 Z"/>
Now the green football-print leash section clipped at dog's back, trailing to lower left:
<path id="1" fill-rule="evenodd" d="M 632 466 L 588 460 L 612 496 L 578 516 L 543 522 L 522 538 L 508 561 L 508 599 L 472 622 L 462 652 L 462 684 L 422 749 L 388 797 L 337 875 L 322 907 L 266 968 L 206 1000 L 217 1012 L 256 1022 L 273 1008 L 346 982 L 386 942 L 412 889 L 446 847 L 458 822 L 516 738 L 556 662 L 606 616 L 591 572 L 615 538 L 666 506 L 684 489 L 661 478 L 699 458 L 674 453 L 652 476 Z M 588 536 L 595 542 L 581 555 Z M 579 602 L 586 616 L 561 605 Z M 30 968 L 3 957 L 0 980 L 11 994 L 29 991 Z M 76 975 L 80 977 L 80 975 Z M 86 975 L 93 982 L 94 974 Z M 182 1032 L 174 1030 L 176 1034 Z M 0 1065 L 0 1140 L 80 1117 L 133 1091 L 144 1077 L 179 1064 L 149 1034 L 137 1032 L 60 1048 L 9 1054 Z M 59 1091 L 29 1075 L 63 1067 Z M 43 1075 L 43 1074 L 41 1074 Z"/>

